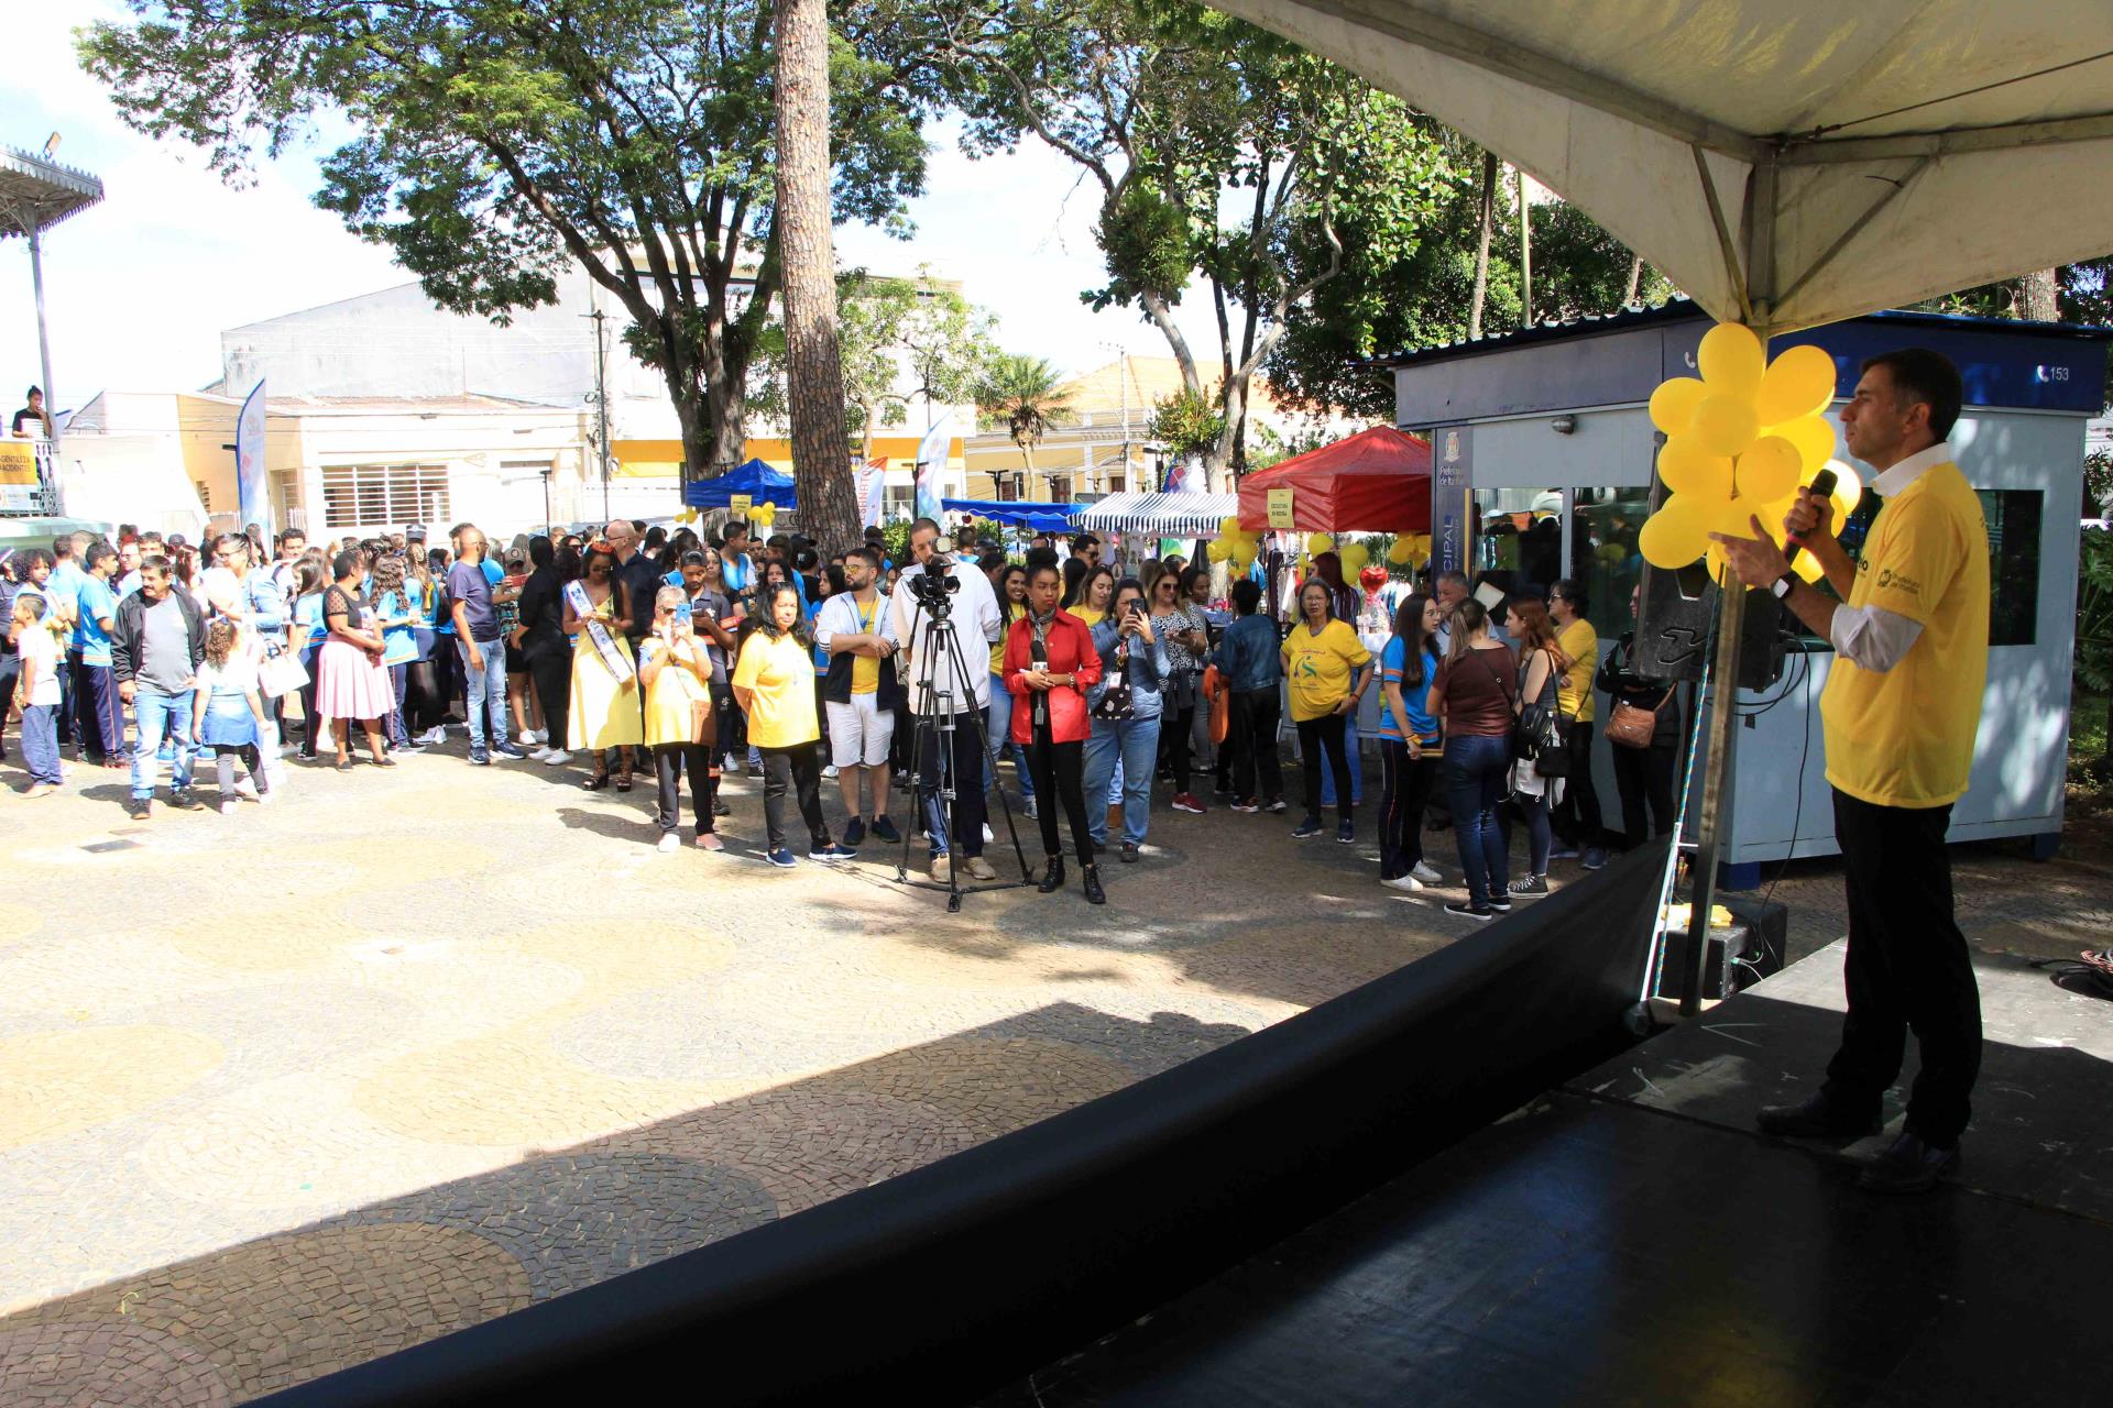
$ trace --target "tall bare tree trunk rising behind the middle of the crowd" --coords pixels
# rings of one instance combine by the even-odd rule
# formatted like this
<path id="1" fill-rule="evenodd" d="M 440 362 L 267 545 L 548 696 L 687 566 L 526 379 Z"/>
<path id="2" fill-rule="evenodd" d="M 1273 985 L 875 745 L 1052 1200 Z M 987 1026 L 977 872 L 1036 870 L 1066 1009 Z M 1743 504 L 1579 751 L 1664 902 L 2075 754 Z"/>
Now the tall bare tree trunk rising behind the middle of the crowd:
<path id="1" fill-rule="evenodd" d="M 860 538 L 837 348 L 828 209 L 828 6 L 778 0 L 778 241 L 799 521 L 824 553 Z"/>

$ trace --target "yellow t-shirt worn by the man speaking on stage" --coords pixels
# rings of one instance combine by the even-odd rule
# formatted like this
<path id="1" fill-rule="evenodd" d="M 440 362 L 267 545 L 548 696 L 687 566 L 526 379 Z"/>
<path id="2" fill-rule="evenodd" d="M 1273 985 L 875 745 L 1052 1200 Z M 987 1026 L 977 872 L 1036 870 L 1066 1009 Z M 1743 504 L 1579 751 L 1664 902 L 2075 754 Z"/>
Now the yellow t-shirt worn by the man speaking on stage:
<path id="1" fill-rule="evenodd" d="M 1988 680 L 1988 524 L 1957 464 L 1933 464 L 1870 524 L 1849 606 L 1923 631 L 1893 669 L 1838 659 L 1819 697 L 1828 781 L 1874 806 L 1965 796 Z"/>

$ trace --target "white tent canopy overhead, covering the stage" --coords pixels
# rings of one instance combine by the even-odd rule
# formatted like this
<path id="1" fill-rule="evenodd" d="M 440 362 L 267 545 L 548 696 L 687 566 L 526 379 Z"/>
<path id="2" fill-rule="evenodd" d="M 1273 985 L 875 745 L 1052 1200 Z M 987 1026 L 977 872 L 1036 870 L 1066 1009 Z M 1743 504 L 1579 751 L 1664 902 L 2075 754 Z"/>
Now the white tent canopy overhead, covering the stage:
<path id="1" fill-rule="evenodd" d="M 1785 331 L 2113 251 L 2107 0 L 1213 0 Z"/>

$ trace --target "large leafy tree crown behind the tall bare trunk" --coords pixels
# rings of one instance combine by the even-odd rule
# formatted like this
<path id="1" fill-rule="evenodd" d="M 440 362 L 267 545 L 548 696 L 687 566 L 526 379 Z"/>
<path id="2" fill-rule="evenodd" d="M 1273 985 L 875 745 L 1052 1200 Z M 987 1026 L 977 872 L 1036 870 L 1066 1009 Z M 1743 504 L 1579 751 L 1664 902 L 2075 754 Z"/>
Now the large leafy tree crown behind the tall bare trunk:
<path id="1" fill-rule="evenodd" d="M 685 441 L 740 445 L 778 283 L 767 0 L 127 2 L 135 23 L 89 25 L 78 49 L 131 127 L 243 179 L 260 141 L 277 154 L 349 122 L 317 203 L 440 306 L 503 321 L 551 302 L 577 262 L 630 315 L 625 344 L 663 372 Z M 890 11 L 839 6 L 845 220 L 900 215 L 947 91 L 890 46 Z"/>

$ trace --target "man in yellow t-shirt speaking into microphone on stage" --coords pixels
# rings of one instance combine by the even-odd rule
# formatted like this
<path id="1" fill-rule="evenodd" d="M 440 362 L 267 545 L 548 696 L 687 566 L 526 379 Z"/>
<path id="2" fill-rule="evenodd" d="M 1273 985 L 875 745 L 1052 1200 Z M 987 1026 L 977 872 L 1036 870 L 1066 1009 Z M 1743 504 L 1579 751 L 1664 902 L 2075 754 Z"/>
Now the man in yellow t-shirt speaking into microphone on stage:
<path id="1" fill-rule="evenodd" d="M 1988 528 L 1944 437 L 1961 405 L 1959 369 L 1923 348 L 1864 363 L 1843 407 L 1849 454 L 1876 473 L 1883 507 L 1853 562 L 1826 498 L 1805 494 L 1785 528 L 1847 602 L 1807 587 L 1760 532 L 1716 534 L 1750 587 L 1769 587 L 1834 644 L 1819 699 L 1834 838 L 1849 891 L 1849 1015 L 1826 1085 L 1760 1112 L 1766 1134 L 1874 1134 L 1912 1030 L 1923 1068 L 1908 1119 L 1859 1182 L 1921 1193 L 1959 1159 L 1980 1070 L 1980 990 L 1952 920 L 1944 851 L 1967 789 L 1988 673 Z"/>

